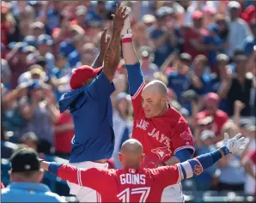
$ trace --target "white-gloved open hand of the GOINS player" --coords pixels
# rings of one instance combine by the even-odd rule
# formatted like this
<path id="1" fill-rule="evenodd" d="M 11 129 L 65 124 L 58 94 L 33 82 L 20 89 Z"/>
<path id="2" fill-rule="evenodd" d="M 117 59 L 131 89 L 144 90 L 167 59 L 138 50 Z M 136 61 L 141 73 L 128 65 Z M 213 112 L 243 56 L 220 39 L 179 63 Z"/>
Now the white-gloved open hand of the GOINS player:
<path id="1" fill-rule="evenodd" d="M 234 138 L 229 139 L 229 134 L 225 133 L 223 144 L 228 148 L 229 153 L 236 153 L 244 150 L 247 142 L 241 134 L 236 134 Z"/>

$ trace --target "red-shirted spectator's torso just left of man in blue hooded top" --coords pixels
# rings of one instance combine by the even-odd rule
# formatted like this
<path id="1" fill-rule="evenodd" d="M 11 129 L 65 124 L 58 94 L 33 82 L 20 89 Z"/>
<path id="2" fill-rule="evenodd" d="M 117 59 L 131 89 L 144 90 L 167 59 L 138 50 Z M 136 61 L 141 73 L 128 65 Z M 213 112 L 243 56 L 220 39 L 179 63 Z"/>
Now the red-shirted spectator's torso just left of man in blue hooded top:
<path id="1" fill-rule="evenodd" d="M 69 110 L 60 114 L 55 124 L 55 151 L 58 155 L 69 155 L 71 151 L 71 140 L 74 136 L 74 124 Z"/>

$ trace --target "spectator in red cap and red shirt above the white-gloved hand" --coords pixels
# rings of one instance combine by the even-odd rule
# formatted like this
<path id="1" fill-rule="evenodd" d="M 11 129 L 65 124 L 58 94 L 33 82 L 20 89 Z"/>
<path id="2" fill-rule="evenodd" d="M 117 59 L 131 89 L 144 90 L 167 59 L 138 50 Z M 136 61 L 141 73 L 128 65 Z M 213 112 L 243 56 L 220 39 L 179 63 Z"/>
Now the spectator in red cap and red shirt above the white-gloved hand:
<path id="1" fill-rule="evenodd" d="M 208 116 L 213 118 L 211 130 L 216 134 L 216 142 L 222 140 L 222 136 L 220 136 L 222 126 L 229 120 L 227 113 L 218 109 L 219 102 L 220 98 L 216 93 L 207 93 L 205 99 L 206 109 L 198 112 L 196 116 L 197 123 Z"/>

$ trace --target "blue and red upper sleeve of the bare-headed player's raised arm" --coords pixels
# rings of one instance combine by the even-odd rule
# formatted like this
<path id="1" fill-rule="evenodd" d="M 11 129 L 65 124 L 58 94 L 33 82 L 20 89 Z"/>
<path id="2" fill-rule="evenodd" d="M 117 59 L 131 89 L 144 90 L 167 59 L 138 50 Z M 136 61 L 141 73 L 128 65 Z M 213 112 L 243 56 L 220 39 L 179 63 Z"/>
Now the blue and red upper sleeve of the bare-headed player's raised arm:
<path id="1" fill-rule="evenodd" d="M 134 113 L 137 113 L 141 106 L 141 93 L 145 86 L 143 71 L 140 63 L 133 65 L 125 65 L 128 73 L 128 82 L 131 94 L 131 102 L 133 105 Z"/>

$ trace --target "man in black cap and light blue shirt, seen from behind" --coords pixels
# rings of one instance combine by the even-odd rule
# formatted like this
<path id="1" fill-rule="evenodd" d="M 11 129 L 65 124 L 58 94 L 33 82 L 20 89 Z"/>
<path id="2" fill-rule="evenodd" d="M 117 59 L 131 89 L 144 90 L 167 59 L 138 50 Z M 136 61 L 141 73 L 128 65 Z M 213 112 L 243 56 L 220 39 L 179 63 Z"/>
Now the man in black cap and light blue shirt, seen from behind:
<path id="1" fill-rule="evenodd" d="M 11 183 L 2 189 L 3 202 L 65 202 L 58 194 L 40 183 L 44 172 L 40 161 L 32 149 L 21 149 L 10 158 Z"/>

